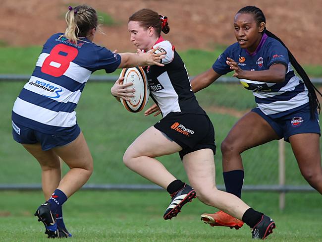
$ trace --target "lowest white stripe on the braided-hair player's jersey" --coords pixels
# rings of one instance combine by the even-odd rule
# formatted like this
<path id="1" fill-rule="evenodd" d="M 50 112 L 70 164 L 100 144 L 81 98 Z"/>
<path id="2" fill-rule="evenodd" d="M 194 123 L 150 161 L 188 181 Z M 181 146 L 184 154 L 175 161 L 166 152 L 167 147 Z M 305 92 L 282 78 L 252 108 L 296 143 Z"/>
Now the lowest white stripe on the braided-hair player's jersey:
<path id="1" fill-rule="evenodd" d="M 308 92 L 305 88 L 304 92 L 299 93 L 294 98 L 287 101 L 276 101 L 273 103 L 259 103 L 258 107 L 262 110 L 262 112 L 266 115 L 272 115 L 287 111 L 290 109 L 297 108 L 303 104 L 309 102 Z"/>

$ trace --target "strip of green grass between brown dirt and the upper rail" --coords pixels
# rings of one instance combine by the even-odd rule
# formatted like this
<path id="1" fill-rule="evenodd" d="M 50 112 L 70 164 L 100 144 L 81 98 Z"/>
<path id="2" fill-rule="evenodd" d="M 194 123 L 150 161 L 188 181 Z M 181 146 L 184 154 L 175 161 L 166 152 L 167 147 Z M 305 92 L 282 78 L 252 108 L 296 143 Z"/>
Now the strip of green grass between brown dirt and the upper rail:
<path id="1" fill-rule="evenodd" d="M 105 21 L 109 22 L 106 14 L 102 13 Z M 130 44 L 130 43 L 129 43 Z M 39 46 L 33 47 L 3 47 L 0 45 L 0 73 L 1 74 L 28 74 L 30 75 L 35 67 L 37 58 L 42 48 Z M 216 58 L 222 53 L 224 48 L 216 45 L 214 51 L 204 50 L 187 50 L 180 51 L 178 49 L 182 60 L 185 62 L 188 73 L 191 76 L 202 73 L 212 67 Z M 113 50 L 112 50 L 113 51 Z M 321 77 L 322 66 L 305 66 L 309 76 Z M 119 71 L 112 73 L 116 75 Z M 105 71 L 97 71 L 94 74 L 106 74 Z"/>

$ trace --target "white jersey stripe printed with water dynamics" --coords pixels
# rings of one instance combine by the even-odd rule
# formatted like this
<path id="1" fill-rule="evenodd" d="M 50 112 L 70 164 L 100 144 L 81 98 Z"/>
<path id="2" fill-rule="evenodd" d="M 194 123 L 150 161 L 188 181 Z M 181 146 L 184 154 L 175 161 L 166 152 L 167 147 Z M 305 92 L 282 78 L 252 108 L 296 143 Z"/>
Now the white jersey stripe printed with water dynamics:
<path id="1" fill-rule="evenodd" d="M 80 90 L 71 92 L 60 85 L 36 76 L 31 76 L 23 88 L 61 103 L 72 102 L 77 104 L 82 94 Z"/>

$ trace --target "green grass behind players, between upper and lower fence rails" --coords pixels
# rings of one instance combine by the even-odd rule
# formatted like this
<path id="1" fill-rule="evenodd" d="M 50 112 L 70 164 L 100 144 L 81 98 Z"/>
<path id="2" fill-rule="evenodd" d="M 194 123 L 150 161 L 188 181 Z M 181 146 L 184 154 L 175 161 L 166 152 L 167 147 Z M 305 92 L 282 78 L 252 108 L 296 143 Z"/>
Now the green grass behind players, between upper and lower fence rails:
<path id="1" fill-rule="evenodd" d="M 11 135 L 11 109 L 23 82 L 0 82 L 0 183 L 40 183 L 40 167 L 35 159 L 13 141 Z M 150 183 L 127 169 L 122 156 L 128 145 L 146 128 L 161 117 L 144 117 L 143 113 L 127 112 L 109 94 L 111 83 L 88 83 L 76 109 L 77 120 L 85 134 L 94 158 L 94 174 L 89 183 Z M 227 95 L 229 99 L 227 99 Z M 214 106 L 247 110 L 255 106 L 251 92 L 241 85 L 215 83 L 197 93 L 200 105 L 206 109 L 215 126 L 217 154 L 216 181 L 221 176 L 220 143 L 238 120 L 230 114 L 218 114 Z M 149 104 L 148 104 L 149 106 Z M 93 118 L 95 117 L 95 118 Z M 131 121 L 130 125 L 127 121 Z M 245 184 L 276 184 L 278 181 L 278 143 L 270 142 L 243 153 L 246 173 Z M 286 182 L 307 185 L 297 167 L 289 144 L 286 144 Z M 186 181 L 186 175 L 177 154 L 161 157 L 164 165 L 177 177 Z M 269 167 L 269 170 L 267 169 Z M 29 171 L 26 173 L 26 171 Z M 64 171 L 67 168 L 64 167 Z M 265 174 L 265 176 L 263 175 Z"/>

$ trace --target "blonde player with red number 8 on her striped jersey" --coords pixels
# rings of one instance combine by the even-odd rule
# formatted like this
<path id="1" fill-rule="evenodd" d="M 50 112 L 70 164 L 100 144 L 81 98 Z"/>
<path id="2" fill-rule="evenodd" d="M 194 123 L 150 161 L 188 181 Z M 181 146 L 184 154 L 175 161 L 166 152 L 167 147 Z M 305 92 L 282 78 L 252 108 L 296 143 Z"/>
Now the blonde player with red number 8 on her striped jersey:
<path id="1" fill-rule="evenodd" d="M 48 238 L 71 237 L 62 219 L 62 205 L 93 172 L 93 159 L 74 111 L 90 75 L 99 69 L 110 73 L 137 65 L 163 66 L 163 53 L 116 54 L 93 43 L 99 26 L 92 7 L 69 6 L 66 22 L 65 33 L 56 33 L 45 43 L 12 110 L 14 140 L 42 168 L 47 202 L 39 206 L 35 216 L 44 223 Z M 121 85 L 115 96 L 126 96 L 127 86 Z M 59 157 L 70 168 L 62 179 Z"/>

